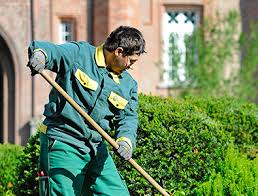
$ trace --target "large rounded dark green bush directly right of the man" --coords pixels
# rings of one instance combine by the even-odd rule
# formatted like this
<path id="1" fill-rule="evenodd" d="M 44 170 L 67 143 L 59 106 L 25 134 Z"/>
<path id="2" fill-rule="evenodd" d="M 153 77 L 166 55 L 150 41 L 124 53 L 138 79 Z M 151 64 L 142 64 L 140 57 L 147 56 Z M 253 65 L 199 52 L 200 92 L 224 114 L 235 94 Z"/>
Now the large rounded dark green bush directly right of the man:
<path id="1" fill-rule="evenodd" d="M 133 155 L 169 192 L 187 195 L 219 168 L 230 140 L 219 121 L 191 102 L 142 95 Z M 157 193 L 130 165 L 114 159 L 132 195 Z"/>

